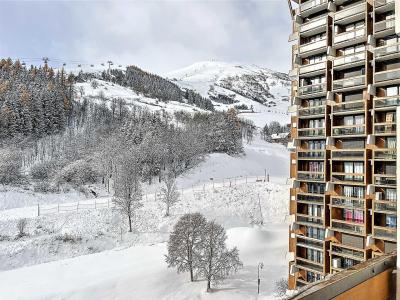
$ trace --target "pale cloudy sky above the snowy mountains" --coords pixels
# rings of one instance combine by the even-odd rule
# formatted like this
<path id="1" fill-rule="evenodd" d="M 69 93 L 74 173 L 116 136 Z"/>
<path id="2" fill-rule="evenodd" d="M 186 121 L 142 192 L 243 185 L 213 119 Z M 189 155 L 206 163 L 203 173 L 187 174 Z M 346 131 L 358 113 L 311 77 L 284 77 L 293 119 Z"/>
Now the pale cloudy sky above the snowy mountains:
<path id="1" fill-rule="evenodd" d="M 0 0 L 0 56 L 135 64 L 165 73 L 203 60 L 290 69 L 283 0 Z"/>

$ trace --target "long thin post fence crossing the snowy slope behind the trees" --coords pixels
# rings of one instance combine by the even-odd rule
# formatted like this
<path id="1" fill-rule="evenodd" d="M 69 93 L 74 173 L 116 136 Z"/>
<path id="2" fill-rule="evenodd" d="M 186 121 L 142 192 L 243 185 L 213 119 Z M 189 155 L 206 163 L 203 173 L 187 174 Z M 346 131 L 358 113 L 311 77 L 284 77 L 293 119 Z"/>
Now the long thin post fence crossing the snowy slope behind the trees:
<path id="1" fill-rule="evenodd" d="M 270 182 L 269 174 L 264 174 L 262 176 L 237 176 L 230 178 L 222 178 L 216 180 L 214 178 L 210 178 L 209 181 L 198 182 L 196 185 L 192 185 L 191 188 L 182 189 L 179 188 L 178 191 L 181 197 L 184 197 L 185 194 L 192 194 L 193 196 L 198 195 L 198 193 L 221 189 L 225 187 L 235 187 L 239 185 L 247 185 L 251 183 L 258 182 Z M 154 193 L 145 193 L 143 195 L 144 201 L 157 201 L 162 197 L 160 192 Z M 58 203 L 58 204 L 38 204 L 37 205 L 37 215 L 49 215 L 49 214 L 57 214 L 57 213 L 68 213 L 68 212 L 78 212 L 82 210 L 95 210 L 95 209 L 105 209 L 105 208 L 114 208 L 114 203 L 111 197 L 107 197 L 104 199 L 93 199 L 93 200 L 84 200 L 73 203 Z"/>

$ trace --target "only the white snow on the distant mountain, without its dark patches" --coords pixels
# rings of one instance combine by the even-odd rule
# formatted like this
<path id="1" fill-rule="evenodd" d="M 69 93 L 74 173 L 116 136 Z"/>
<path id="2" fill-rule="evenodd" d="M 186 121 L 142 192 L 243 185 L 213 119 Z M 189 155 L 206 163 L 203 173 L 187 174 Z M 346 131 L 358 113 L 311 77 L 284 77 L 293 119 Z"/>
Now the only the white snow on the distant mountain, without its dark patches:
<path id="1" fill-rule="evenodd" d="M 245 104 L 249 108 L 253 107 L 254 112 L 243 112 L 241 117 L 252 120 L 258 127 L 264 127 L 267 122 L 278 121 L 282 124 L 290 122 L 290 116 L 287 112 L 289 87 L 288 81 L 277 78 L 276 72 L 258 67 L 255 65 L 239 65 L 234 63 L 204 61 L 197 62 L 188 67 L 175 70 L 166 74 L 167 78 L 173 80 L 181 87 L 189 88 L 197 91 L 203 97 L 209 97 L 210 87 L 214 88 L 215 93 L 222 95 L 233 95 L 238 101 L 235 104 L 221 104 L 213 102 L 217 110 L 227 110 L 235 105 Z M 241 80 L 243 75 L 262 75 L 265 78 L 265 83 L 270 88 L 270 93 L 275 99 L 271 101 L 276 103 L 276 106 L 268 107 L 252 99 L 246 98 L 233 90 L 226 89 L 221 86 L 221 82 L 227 79 L 236 78 L 232 84 L 240 90 L 248 89 L 251 91 L 251 86 L 246 86 Z M 264 82 L 262 82 L 264 83 Z"/>

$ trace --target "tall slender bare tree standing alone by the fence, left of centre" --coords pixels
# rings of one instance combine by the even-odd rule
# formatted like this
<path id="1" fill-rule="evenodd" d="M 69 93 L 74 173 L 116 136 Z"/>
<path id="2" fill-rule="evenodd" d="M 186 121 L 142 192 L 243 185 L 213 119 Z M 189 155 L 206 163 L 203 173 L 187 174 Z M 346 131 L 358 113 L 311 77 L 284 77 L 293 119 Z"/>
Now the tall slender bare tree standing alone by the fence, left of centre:
<path id="1" fill-rule="evenodd" d="M 139 164 L 135 158 L 124 154 L 118 161 L 114 204 L 128 218 L 129 232 L 132 232 L 132 218 L 136 220 L 137 210 L 143 206 L 140 186 Z"/>

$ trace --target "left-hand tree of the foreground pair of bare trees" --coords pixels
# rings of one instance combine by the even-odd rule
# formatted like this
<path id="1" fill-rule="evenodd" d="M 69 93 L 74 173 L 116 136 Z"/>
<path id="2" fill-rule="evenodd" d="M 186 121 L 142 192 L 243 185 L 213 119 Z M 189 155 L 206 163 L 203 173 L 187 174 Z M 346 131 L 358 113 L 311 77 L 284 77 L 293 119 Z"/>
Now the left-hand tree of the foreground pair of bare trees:
<path id="1" fill-rule="evenodd" d="M 201 235 L 206 224 L 206 218 L 200 213 L 185 214 L 169 236 L 166 256 L 168 267 L 176 267 L 178 273 L 189 272 L 190 281 L 194 280 L 194 268 L 201 251 Z"/>

